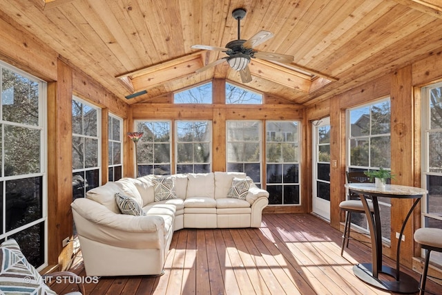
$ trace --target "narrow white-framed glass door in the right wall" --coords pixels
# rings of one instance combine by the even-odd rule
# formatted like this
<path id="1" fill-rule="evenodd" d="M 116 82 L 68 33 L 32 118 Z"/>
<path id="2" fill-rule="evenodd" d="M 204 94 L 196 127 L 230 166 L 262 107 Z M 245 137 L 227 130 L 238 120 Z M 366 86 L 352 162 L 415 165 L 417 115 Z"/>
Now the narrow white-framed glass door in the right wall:
<path id="1" fill-rule="evenodd" d="M 311 123 L 313 213 L 330 220 L 330 118 Z"/>

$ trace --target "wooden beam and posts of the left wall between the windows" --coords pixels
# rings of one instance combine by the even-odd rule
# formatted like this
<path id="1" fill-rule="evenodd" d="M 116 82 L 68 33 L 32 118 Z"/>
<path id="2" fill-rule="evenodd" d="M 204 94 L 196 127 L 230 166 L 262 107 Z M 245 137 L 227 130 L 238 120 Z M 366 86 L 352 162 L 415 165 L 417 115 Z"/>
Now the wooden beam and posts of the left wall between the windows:
<path id="1" fill-rule="evenodd" d="M 8 19 L 8 17 L 5 17 Z M 72 202 L 72 97 L 73 94 L 102 108 L 102 182 L 107 181 L 107 114 L 127 118 L 128 106 L 80 69 L 59 58 L 29 35 L 14 20 L 0 15 L 0 59 L 48 82 L 48 263 L 63 269 L 70 260 L 73 235 Z M 124 120 L 124 131 L 127 122 Z"/>

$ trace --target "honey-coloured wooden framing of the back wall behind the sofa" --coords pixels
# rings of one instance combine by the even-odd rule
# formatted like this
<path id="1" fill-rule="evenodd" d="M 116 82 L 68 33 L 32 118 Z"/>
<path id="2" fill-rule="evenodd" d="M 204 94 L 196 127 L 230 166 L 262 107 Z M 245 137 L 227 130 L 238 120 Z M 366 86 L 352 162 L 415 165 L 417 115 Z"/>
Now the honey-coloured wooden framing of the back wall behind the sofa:
<path id="1" fill-rule="evenodd" d="M 135 120 L 171 120 L 172 128 L 175 128 L 175 120 L 211 120 L 212 122 L 212 170 L 213 171 L 226 171 L 226 121 L 227 120 L 300 120 L 301 125 L 305 125 L 305 108 L 300 105 L 294 104 L 262 104 L 260 106 L 251 105 L 227 105 L 224 104 L 224 79 L 215 79 L 213 81 L 213 104 L 211 105 L 186 105 L 186 104 L 133 104 L 130 107 L 129 113 L 131 114 L 132 122 L 131 131 L 135 131 L 133 122 Z M 266 97 L 265 97 L 266 100 Z M 172 99 L 167 99 L 168 102 Z M 271 98 L 272 102 L 276 102 L 276 98 Z M 302 142 L 301 146 L 305 146 L 306 134 L 304 133 L 304 127 L 302 130 Z M 262 138 L 266 138 L 265 125 L 262 126 Z M 263 140 L 265 144 L 265 140 Z M 134 153 L 133 144 L 129 144 L 129 153 L 127 154 L 128 166 L 126 176 L 133 176 L 134 168 Z M 172 144 L 175 146 L 175 144 Z M 302 148 L 303 151 L 303 148 Z M 173 153 L 172 153 L 173 154 Z M 302 153 L 302 157 L 304 157 Z M 265 158 L 262 156 L 261 158 Z M 305 158 L 301 159 L 305 162 Z M 265 162 L 262 163 L 265 166 Z M 301 166 L 301 175 L 305 175 L 304 169 L 307 169 L 308 165 Z M 174 169 L 174 167 L 172 168 Z M 175 171 L 172 171 L 174 173 Z M 265 169 L 262 171 L 262 179 L 266 179 Z M 308 177 L 305 177 L 308 179 Z M 302 182 L 302 191 L 307 191 L 308 182 Z M 280 207 L 267 207 L 266 212 L 308 212 L 309 201 L 302 195 L 301 206 L 280 206 Z"/>

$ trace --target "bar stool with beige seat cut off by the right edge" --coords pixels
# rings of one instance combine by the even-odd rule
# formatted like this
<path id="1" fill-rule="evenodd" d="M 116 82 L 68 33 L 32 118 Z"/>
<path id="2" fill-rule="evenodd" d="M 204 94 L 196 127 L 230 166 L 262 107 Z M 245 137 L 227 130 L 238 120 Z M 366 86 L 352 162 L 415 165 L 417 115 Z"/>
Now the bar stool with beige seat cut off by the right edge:
<path id="1" fill-rule="evenodd" d="M 414 240 L 418 242 L 423 249 L 427 250 L 425 255 L 425 265 L 419 283 L 419 294 L 425 294 L 425 282 L 427 280 L 428 263 L 430 262 L 430 253 L 432 250 L 442 252 L 442 229 L 432 227 L 423 227 L 414 232 Z"/>

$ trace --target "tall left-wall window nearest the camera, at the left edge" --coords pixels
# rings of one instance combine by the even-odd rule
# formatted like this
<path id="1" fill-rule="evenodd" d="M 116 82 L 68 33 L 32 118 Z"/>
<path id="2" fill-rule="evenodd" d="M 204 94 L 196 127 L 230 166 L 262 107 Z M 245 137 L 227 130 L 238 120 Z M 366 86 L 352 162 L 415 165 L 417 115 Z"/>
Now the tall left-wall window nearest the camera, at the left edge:
<path id="1" fill-rule="evenodd" d="M 0 62 L 0 240 L 47 265 L 46 83 Z"/>

